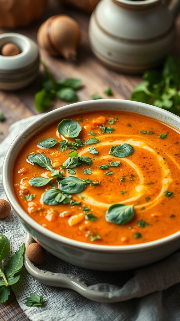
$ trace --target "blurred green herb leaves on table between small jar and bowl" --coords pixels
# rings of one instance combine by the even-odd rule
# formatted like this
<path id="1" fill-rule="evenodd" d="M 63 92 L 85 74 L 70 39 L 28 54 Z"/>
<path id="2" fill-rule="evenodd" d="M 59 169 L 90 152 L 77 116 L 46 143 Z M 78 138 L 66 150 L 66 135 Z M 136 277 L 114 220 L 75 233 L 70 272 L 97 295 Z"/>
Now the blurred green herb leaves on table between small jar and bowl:
<path id="1" fill-rule="evenodd" d="M 52 100 L 59 98 L 63 101 L 78 101 L 76 90 L 81 86 L 81 80 L 76 78 L 65 78 L 57 82 L 49 72 L 44 61 L 44 77 L 42 79 L 42 89 L 35 94 L 35 106 L 37 111 L 43 112 L 51 106 Z"/>

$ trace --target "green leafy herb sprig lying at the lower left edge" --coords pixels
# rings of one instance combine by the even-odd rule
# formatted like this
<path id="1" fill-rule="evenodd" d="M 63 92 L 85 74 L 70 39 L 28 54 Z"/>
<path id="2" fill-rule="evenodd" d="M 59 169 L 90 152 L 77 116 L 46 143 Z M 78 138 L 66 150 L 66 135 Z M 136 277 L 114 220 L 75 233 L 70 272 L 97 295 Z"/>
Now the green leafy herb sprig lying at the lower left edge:
<path id="1" fill-rule="evenodd" d="M 8 260 L 7 265 L 2 268 L 2 261 L 10 252 L 10 244 L 5 235 L 0 234 L 0 303 L 7 301 L 10 295 L 11 285 L 18 282 L 20 270 L 23 266 L 23 253 L 25 244 L 23 243 L 19 250 L 16 251 Z"/>

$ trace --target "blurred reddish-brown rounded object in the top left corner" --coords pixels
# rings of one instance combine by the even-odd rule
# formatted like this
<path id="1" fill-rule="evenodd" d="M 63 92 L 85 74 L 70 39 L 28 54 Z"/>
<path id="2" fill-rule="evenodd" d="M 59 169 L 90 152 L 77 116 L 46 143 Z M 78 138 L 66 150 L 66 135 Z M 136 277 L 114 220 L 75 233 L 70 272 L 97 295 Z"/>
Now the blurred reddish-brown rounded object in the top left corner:
<path id="1" fill-rule="evenodd" d="M 39 19 L 47 0 L 0 0 L 0 27 L 28 26 Z"/>

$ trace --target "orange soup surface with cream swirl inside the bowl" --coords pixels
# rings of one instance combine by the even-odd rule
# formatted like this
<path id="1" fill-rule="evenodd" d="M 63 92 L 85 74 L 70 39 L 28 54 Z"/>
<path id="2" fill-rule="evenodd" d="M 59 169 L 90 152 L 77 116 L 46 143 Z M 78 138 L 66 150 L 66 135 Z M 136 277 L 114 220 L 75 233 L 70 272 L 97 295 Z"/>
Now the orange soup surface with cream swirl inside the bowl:
<path id="1" fill-rule="evenodd" d="M 93 244 L 137 244 L 177 232 L 180 226 L 179 132 L 155 119 L 130 112 L 92 112 L 69 119 L 82 127 L 78 137 L 61 136 L 57 131 L 58 120 L 30 139 L 17 157 L 13 187 L 25 212 L 57 234 Z M 80 138 L 86 142 L 93 137 L 99 142 L 75 146 L 78 157 L 88 156 L 92 164 L 82 163 L 69 170 L 61 169 L 73 149 L 68 145 L 61 151 L 60 141 L 68 139 L 73 143 Z M 55 138 L 58 143 L 51 148 L 37 146 L 46 138 Z M 130 155 L 118 157 L 109 154 L 112 146 L 124 143 L 134 148 Z M 85 188 L 80 193 L 71 193 L 71 200 L 80 204 L 56 201 L 55 205 L 48 205 L 43 202 L 45 192 L 58 189 L 57 181 L 62 182 L 63 178 L 53 178 L 42 187 L 31 186 L 29 180 L 33 177 L 52 178 L 52 171 L 27 161 L 29 154 L 37 153 L 49 157 L 52 168 L 63 172 L 64 177 L 91 180 L 91 183 L 85 181 Z M 120 161 L 120 164 L 116 163 L 118 166 L 110 165 L 116 161 Z M 104 169 L 99 168 L 102 165 L 106 165 Z M 70 186 L 73 191 L 73 183 Z M 115 208 L 115 222 L 112 222 L 112 210 L 111 221 L 106 214 L 112 204 L 130 205 L 123 207 L 123 211 L 121 205 Z"/>

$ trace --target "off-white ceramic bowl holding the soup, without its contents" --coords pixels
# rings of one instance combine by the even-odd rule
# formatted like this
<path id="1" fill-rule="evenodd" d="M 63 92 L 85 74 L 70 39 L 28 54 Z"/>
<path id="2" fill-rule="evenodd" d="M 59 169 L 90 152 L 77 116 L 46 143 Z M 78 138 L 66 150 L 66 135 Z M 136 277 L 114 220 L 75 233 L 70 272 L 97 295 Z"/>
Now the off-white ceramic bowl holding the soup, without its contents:
<path id="1" fill-rule="evenodd" d="M 12 169 L 16 156 L 27 139 L 50 123 L 93 110 L 126 110 L 148 115 L 180 130 L 180 118 L 166 110 L 140 102 L 103 99 L 90 100 L 55 109 L 27 126 L 11 144 L 3 164 L 4 190 L 25 230 L 46 250 L 61 259 L 82 267 L 115 271 L 133 269 L 156 262 L 180 247 L 180 232 L 143 244 L 106 246 L 79 242 L 55 234 L 35 222 L 18 204 L 12 190 Z"/>

